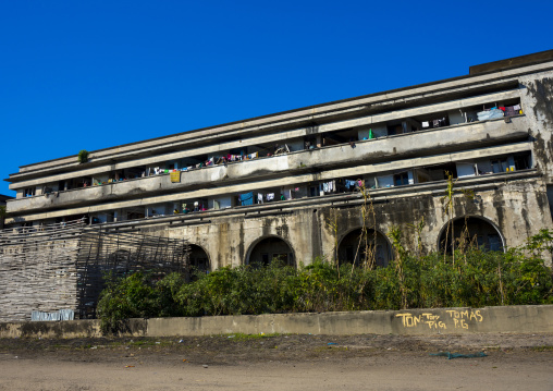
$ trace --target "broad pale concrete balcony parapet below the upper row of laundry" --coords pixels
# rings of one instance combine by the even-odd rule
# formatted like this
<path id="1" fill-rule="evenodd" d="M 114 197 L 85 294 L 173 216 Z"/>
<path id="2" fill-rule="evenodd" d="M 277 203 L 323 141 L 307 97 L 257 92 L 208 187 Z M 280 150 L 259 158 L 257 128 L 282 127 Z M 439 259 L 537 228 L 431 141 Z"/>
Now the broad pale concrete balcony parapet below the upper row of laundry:
<path id="1" fill-rule="evenodd" d="M 53 210 L 187 190 L 228 186 L 234 183 L 319 172 L 330 168 L 352 168 L 358 164 L 509 144 L 527 137 L 525 117 L 512 118 L 509 123 L 503 119 L 476 122 L 362 140 L 355 143 L 355 145 L 342 144 L 184 171 L 181 173 L 180 183 L 171 183 L 169 174 L 161 174 L 29 198 L 17 198 L 8 200 L 8 211 Z"/>

